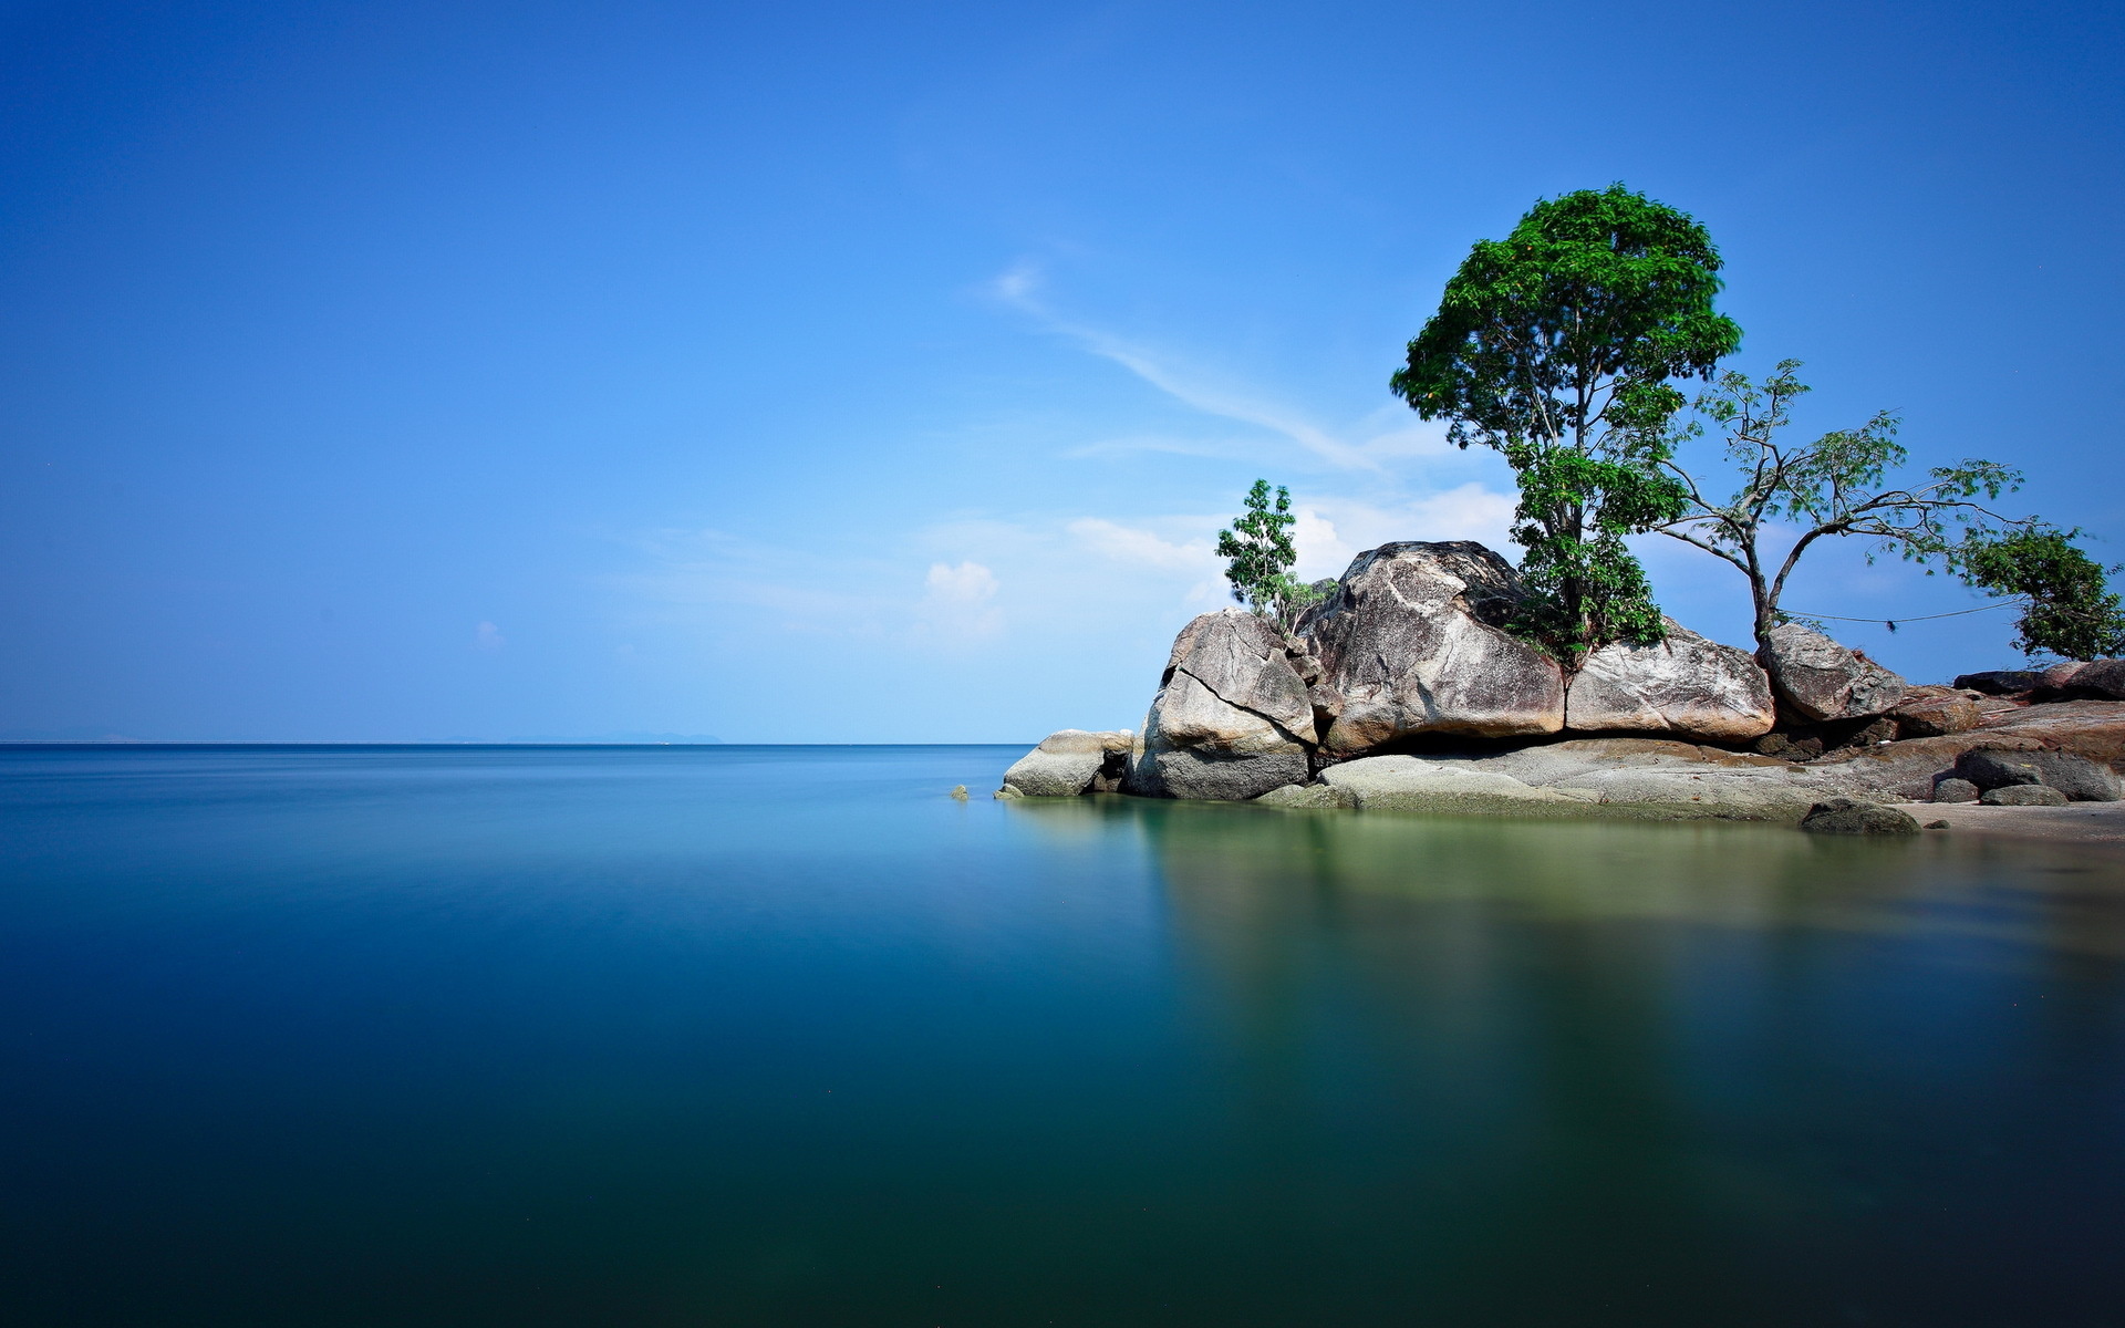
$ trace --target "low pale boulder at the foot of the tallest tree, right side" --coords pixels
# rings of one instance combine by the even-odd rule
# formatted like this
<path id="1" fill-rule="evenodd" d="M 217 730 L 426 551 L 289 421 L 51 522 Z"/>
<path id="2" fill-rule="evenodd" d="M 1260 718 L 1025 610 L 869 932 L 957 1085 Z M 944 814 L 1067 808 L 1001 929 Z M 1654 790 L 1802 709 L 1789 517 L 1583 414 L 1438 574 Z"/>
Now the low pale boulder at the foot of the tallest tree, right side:
<path id="1" fill-rule="evenodd" d="M 1575 733 L 1749 742 L 1776 718 L 1770 678 L 1747 650 L 1672 618 L 1668 640 L 1655 646 L 1617 642 L 1587 654 L 1564 693 L 1564 727 Z"/>

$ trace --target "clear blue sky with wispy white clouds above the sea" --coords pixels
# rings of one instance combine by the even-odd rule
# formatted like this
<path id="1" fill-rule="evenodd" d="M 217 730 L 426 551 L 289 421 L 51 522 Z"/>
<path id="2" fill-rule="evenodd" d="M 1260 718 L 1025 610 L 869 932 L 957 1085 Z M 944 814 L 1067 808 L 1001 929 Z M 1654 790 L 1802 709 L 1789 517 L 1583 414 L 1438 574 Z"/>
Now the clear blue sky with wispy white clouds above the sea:
<path id="1" fill-rule="evenodd" d="M 2108 4 L 0 4 L 0 737 L 1135 727 L 1256 478 L 1309 578 L 1513 552 L 1386 382 L 1613 181 L 1798 433 L 1896 408 L 2121 561 L 2121 57 Z M 1862 552 L 1787 606 L 1983 603 Z M 1834 627 L 1944 680 L 2010 618 Z"/>

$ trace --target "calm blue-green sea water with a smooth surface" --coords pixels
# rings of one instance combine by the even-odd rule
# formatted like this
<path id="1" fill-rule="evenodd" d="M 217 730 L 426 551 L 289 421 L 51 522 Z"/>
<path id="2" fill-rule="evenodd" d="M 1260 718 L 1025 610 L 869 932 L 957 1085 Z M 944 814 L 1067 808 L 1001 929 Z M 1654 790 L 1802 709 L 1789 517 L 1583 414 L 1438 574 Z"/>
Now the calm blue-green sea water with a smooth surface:
<path id="1" fill-rule="evenodd" d="M 0 752 L 0 1317 L 2125 1324 L 2119 865 L 1016 754 Z"/>

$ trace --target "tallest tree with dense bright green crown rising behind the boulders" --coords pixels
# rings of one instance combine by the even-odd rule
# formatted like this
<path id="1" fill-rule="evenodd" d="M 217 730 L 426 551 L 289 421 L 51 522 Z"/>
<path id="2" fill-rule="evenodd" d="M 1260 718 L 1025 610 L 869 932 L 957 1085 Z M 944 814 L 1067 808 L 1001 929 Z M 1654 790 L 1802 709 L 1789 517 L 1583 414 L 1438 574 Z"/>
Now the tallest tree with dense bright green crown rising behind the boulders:
<path id="1" fill-rule="evenodd" d="M 1662 470 L 1685 404 L 1670 378 L 1708 378 L 1740 344 L 1717 293 L 1719 253 L 1689 215 L 1624 185 L 1541 200 L 1470 249 L 1390 380 L 1454 444 L 1511 463 L 1532 593 L 1517 629 L 1566 657 L 1664 635 L 1624 535 L 1683 510 Z"/>

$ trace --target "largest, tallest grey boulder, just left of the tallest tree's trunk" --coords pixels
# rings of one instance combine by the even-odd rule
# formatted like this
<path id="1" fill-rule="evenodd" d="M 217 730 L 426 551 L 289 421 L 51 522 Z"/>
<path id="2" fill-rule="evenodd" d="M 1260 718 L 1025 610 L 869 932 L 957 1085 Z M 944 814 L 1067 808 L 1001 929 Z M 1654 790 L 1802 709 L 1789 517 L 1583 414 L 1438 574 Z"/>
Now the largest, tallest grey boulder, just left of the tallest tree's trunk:
<path id="1" fill-rule="evenodd" d="M 1564 729 L 1564 671 L 1504 631 L 1522 599 L 1513 567 L 1468 540 L 1358 555 L 1300 623 L 1337 710 L 1324 746 L 1349 756 L 1420 733 Z"/>

